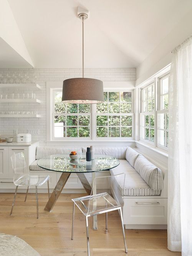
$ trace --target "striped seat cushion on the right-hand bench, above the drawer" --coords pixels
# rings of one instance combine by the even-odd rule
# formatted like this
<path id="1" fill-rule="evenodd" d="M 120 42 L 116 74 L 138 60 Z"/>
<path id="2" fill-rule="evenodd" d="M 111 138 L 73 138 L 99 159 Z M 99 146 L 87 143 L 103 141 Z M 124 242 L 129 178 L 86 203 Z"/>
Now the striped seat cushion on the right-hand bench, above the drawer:
<path id="1" fill-rule="evenodd" d="M 125 173 L 124 187 L 123 177 L 115 177 L 114 180 L 122 196 L 154 196 L 161 193 L 160 190 L 152 190 L 127 160 L 120 160 L 120 164 L 110 172 L 111 175 Z"/>

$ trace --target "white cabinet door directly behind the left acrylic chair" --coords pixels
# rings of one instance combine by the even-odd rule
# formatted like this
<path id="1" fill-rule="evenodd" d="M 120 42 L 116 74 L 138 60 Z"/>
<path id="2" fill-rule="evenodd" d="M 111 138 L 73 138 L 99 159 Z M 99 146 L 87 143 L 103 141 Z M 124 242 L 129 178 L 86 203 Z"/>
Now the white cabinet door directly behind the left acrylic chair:
<path id="1" fill-rule="evenodd" d="M 20 152 L 24 153 L 27 167 L 29 168 L 29 148 L 26 146 L 9 147 L 9 179 L 13 179 L 11 156 Z"/>

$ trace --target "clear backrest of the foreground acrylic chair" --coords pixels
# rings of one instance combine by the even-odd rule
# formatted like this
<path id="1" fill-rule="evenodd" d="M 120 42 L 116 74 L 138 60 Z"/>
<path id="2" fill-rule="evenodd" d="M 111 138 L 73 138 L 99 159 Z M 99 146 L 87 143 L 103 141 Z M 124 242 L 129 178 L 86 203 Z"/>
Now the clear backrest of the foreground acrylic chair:
<path id="1" fill-rule="evenodd" d="M 122 188 L 124 188 L 124 173 L 111 176 L 101 176 L 94 179 L 91 196 L 87 202 L 87 214 L 99 213 L 108 208 L 122 207 L 124 205 L 117 180 L 121 180 Z"/>

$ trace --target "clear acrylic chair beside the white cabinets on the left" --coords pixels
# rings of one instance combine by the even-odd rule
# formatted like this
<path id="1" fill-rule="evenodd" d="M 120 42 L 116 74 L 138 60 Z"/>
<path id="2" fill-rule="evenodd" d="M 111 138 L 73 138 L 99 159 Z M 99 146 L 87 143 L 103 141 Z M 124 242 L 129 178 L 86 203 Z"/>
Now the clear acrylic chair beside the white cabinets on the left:
<path id="1" fill-rule="evenodd" d="M 48 196 L 50 197 L 49 191 L 49 178 L 50 176 L 43 175 L 30 175 L 29 169 L 26 164 L 24 153 L 17 153 L 11 156 L 12 167 L 13 167 L 13 183 L 16 185 L 15 195 L 13 198 L 13 204 L 10 215 L 13 213 L 13 206 L 15 203 L 15 198 L 17 195 L 18 186 L 27 186 L 25 201 L 27 198 L 29 187 L 35 185 L 36 189 L 36 211 L 37 219 L 39 218 L 39 209 L 38 209 L 38 191 L 37 187 L 43 185 L 47 181 L 48 185 Z"/>

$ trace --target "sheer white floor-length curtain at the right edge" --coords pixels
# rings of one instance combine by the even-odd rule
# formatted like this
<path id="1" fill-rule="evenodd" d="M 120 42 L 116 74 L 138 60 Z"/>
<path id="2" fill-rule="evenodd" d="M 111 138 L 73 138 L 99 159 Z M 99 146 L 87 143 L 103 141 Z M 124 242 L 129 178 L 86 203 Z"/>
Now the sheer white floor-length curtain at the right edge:
<path id="1" fill-rule="evenodd" d="M 169 93 L 168 249 L 192 255 L 192 36 L 175 48 Z"/>

